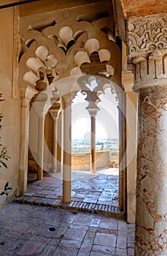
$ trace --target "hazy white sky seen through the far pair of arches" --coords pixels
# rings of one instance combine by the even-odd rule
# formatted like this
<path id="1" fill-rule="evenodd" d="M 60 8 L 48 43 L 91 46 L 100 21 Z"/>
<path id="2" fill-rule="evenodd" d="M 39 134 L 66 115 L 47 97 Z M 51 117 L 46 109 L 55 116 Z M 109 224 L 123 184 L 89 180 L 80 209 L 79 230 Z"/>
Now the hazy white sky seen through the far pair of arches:
<path id="1" fill-rule="evenodd" d="M 72 103 L 71 135 L 72 139 L 85 139 L 90 135 L 90 115 L 85 108 L 88 102 L 80 92 Z M 100 110 L 96 116 L 96 139 L 118 138 L 118 110 L 116 94 L 111 89 L 106 89 L 105 94 L 100 95 L 98 103 Z"/>

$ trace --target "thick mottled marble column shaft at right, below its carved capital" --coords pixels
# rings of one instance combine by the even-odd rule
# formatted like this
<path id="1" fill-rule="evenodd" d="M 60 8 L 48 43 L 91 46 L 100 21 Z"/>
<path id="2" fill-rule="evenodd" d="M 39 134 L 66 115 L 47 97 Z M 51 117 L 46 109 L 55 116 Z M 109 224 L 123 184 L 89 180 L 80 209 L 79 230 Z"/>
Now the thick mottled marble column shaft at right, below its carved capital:
<path id="1" fill-rule="evenodd" d="M 135 255 L 167 255 L 167 86 L 139 91 Z"/>

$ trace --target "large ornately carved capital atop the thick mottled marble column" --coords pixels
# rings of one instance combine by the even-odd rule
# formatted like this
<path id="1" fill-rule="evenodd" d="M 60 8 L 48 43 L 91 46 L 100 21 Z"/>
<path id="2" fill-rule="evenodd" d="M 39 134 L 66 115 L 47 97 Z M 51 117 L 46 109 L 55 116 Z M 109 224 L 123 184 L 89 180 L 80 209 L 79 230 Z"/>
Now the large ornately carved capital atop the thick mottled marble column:
<path id="1" fill-rule="evenodd" d="M 133 91 L 167 85 L 167 14 L 128 20 L 128 61 L 135 65 Z"/>

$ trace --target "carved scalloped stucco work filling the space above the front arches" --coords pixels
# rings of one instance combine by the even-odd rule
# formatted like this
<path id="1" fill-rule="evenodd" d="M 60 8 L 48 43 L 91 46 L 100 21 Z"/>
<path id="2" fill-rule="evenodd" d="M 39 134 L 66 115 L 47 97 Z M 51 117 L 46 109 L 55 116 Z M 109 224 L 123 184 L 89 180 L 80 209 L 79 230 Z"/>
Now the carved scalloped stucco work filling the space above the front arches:
<path id="1" fill-rule="evenodd" d="M 29 29 L 21 36 L 20 84 L 24 81 L 34 87 L 37 80 L 43 79 L 49 86 L 55 80 L 83 75 L 81 66 L 91 62 L 90 56 L 95 51 L 100 62 L 105 62 L 106 72 L 120 83 L 120 49 L 97 23 L 95 26 L 88 21 L 71 23 L 66 18 L 42 31 L 32 26 Z"/>

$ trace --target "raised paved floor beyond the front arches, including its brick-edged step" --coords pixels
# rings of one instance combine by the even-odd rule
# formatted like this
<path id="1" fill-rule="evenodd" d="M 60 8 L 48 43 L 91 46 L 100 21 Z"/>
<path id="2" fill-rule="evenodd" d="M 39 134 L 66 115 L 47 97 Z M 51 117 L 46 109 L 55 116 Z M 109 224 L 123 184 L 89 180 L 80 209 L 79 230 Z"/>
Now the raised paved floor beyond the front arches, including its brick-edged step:
<path id="1" fill-rule="evenodd" d="M 62 173 L 44 173 L 36 181 L 36 173 L 29 173 L 28 191 L 15 203 L 51 206 L 125 219 L 118 208 L 118 170 L 108 168 L 96 173 L 72 171 L 71 203 L 62 203 Z"/>

